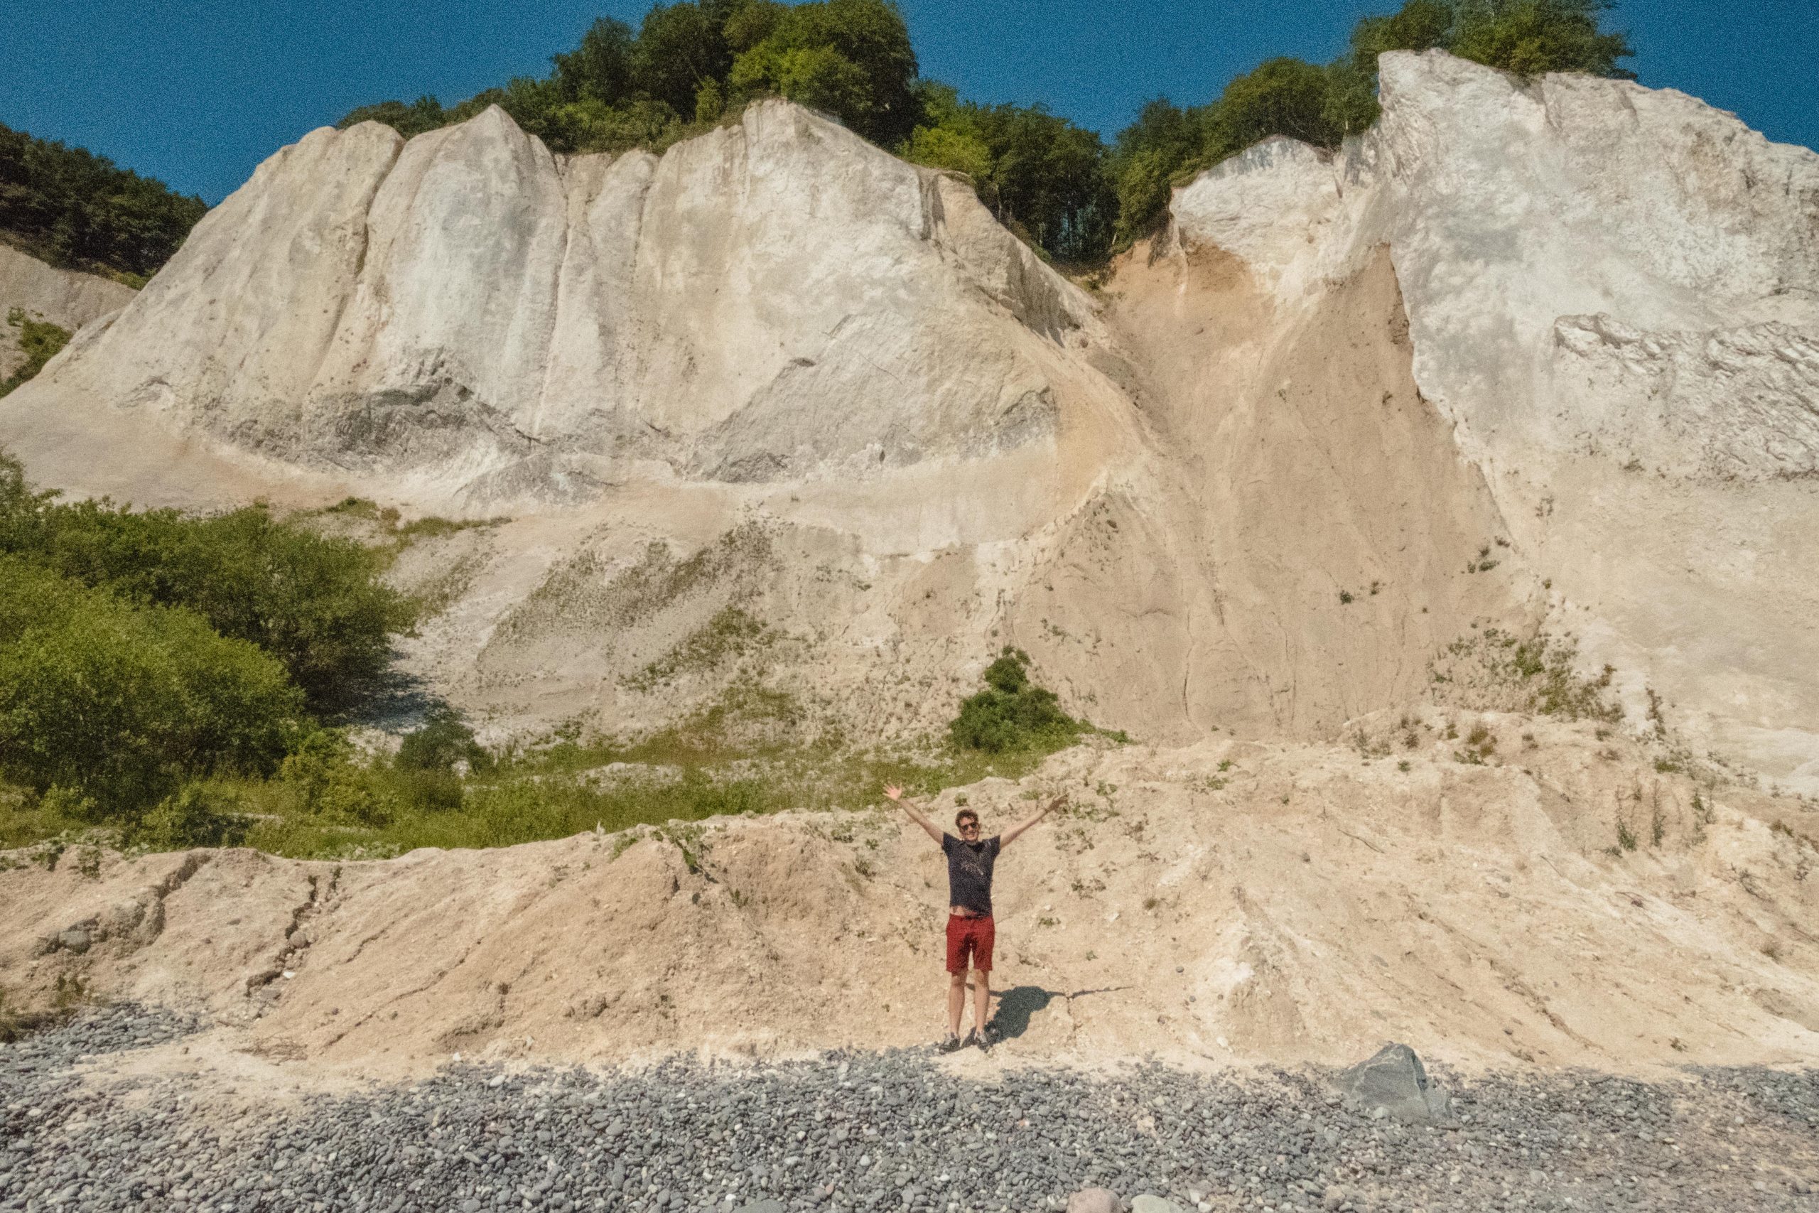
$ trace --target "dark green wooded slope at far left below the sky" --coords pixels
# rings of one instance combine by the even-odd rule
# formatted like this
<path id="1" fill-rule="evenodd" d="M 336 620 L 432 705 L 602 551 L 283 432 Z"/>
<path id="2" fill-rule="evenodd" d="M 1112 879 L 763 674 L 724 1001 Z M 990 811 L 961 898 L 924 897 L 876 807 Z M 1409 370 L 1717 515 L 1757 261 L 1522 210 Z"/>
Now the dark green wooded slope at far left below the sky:
<path id="1" fill-rule="evenodd" d="M 0 233 L 55 266 L 144 280 L 206 213 L 106 156 L 0 124 Z"/>

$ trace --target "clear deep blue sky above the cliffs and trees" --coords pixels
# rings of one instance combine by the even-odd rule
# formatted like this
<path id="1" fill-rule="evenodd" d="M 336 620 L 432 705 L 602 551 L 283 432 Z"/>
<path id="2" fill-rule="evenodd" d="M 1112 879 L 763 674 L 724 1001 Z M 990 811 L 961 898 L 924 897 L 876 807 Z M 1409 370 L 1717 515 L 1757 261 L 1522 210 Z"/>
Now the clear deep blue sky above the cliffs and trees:
<path id="1" fill-rule="evenodd" d="M 1399 0 L 900 0 L 922 73 L 1042 102 L 1108 138 L 1151 96 L 1199 104 L 1271 55 L 1326 60 Z M 460 100 L 544 75 L 598 15 L 648 0 L 64 0 L 0 40 L 0 122 L 218 202 L 353 105 Z M 1630 67 L 1819 147 L 1819 0 L 1623 0 Z"/>

